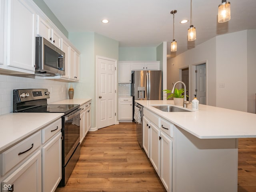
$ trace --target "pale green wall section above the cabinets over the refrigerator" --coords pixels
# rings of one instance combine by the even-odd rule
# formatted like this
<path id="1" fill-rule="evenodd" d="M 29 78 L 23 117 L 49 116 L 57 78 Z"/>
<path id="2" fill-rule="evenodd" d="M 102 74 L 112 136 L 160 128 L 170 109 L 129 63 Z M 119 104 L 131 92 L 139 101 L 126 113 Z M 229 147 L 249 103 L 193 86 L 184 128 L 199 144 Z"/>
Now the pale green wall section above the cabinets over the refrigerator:
<path id="1" fill-rule="evenodd" d="M 156 61 L 155 47 L 120 47 L 120 61 Z"/>

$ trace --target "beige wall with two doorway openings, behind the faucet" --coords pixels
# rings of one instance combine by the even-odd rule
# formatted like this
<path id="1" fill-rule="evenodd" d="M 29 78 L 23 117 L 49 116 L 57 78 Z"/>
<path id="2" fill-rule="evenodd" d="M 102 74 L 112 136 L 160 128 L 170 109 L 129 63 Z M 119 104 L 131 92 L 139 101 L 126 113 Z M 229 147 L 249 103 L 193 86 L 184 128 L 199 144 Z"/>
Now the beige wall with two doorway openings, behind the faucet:
<path id="1" fill-rule="evenodd" d="M 212 38 L 195 48 L 167 60 L 167 89 L 180 80 L 180 69 L 189 67 L 189 97 L 194 95 L 194 65 L 206 62 L 206 104 L 216 106 L 216 39 Z"/>

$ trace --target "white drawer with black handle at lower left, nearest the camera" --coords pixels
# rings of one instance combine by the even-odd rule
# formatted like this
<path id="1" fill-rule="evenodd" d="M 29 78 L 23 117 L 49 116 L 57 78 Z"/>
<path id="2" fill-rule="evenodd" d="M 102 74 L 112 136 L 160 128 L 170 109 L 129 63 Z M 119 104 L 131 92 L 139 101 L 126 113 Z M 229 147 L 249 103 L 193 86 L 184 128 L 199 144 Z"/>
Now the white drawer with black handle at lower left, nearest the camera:
<path id="1" fill-rule="evenodd" d="M 1 175 L 3 176 L 16 164 L 24 160 L 41 145 L 41 131 L 26 138 L 1 154 Z"/>

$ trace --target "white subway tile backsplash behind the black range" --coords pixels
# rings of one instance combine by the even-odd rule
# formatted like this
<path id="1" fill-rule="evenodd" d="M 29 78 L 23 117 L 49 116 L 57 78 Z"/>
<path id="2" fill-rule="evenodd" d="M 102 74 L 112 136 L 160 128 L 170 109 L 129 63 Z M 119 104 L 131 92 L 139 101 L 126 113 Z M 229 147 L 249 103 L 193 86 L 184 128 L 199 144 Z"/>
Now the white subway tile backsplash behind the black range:
<path id="1" fill-rule="evenodd" d="M 48 103 L 68 99 L 68 83 L 54 80 L 24 78 L 0 74 L 0 115 L 12 112 L 14 89 L 46 88 L 50 92 Z"/>

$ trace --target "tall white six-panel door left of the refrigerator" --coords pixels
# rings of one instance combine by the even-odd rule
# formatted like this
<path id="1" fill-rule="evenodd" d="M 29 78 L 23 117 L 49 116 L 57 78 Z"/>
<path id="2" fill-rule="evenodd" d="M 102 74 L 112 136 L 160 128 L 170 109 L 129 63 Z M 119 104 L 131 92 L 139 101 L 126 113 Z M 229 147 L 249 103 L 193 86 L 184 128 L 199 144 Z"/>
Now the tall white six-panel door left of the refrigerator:
<path id="1" fill-rule="evenodd" d="M 97 127 L 115 124 L 116 117 L 116 61 L 97 58 Z"/>

